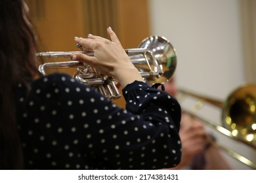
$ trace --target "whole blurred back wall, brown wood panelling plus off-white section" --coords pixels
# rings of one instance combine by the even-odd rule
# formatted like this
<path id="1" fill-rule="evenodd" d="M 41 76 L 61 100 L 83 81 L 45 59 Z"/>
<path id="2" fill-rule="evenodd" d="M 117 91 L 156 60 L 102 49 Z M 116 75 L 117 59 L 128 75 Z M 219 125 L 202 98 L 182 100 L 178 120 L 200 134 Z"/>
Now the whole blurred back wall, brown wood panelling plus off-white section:
<path id="1" fill-rule="evenodd" d="M 123 48 L 137 48 L 150 35 L 167 38 L 177 52 L 175 79 L 179 88 L 224 101 L 236 88 L 256 83 L 254 0 L 27 0 L 27 3 L 39 35 L 38 52 L 77 50 L 74 37 L 87 37 L 89 33 L 109 39 L 106 28 L 111 26 Z M 74 70 L 62 72 L 72 75 Z M 114 102 L 125 108 L 123 98 Z M 182 107 L 188 109 L 191 103 L 181 101 Z M 216 125 L 222 124 L 219 108 L 204 107 L 198 115 Z M 212 127 L 207 129 L 225 148 L 237 150 L 256 162 L 255 148 Z M 234 169 L 252 169 L 224 151 L 223 154 Z"/>

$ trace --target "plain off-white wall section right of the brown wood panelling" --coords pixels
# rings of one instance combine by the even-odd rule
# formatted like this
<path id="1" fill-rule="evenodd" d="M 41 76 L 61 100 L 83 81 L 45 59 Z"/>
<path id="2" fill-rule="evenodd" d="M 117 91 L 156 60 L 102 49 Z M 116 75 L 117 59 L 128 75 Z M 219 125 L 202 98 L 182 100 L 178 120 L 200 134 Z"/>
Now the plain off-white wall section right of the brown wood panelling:
<path id="1" fill-rule="evenodd" d="M 245 82 L 242 50 L 242 27 L 239 0 L 149 0 L 151 35 L 169 39 L 177 51 L 175 76 L 180 88 L 224 100 Z M 221 111 L 204 112 L 219 120 Z M 244 146 L 217 139 L 224 146 L 243 149 Z M 234 169 L 249 169 L 227 157 Z"/>

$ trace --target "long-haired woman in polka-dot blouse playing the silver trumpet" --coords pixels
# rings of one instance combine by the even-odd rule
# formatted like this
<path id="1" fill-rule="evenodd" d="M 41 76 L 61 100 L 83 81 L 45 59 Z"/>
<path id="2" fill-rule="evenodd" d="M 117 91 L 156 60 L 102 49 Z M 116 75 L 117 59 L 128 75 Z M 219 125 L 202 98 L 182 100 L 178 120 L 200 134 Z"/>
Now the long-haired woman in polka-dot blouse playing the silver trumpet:
<path id="1" fill-rule="evenodd" d="M 127 110 L 66 74 L 38 76 L 35 35 L 22 0 L 0 1 L 1 169 L 160 169 L 181 159 L 181 108 L 151 88 L 114 31 L 75 42 L 71 58 L 114 76 Z"/>

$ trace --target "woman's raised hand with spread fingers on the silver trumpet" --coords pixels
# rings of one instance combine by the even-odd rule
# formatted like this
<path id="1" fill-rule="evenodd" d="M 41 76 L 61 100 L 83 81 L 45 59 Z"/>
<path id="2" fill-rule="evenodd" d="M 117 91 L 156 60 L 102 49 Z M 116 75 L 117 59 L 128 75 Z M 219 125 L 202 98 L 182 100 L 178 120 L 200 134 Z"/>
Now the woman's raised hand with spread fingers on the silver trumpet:
<path id="1" fill-rule="evenodd" d="M 85 50 L 93 50 L 95 54 L 94 56 L 73 54 L 72 60 L 87 63 L 102 75 L 114 76 L 123 88 L 135 80 L 143 81 L 139 71 L 131 63 L 131 59 L 121 46 L 116 33 L 110 27 L 107 31 L 111 41 L 91 34 L 87 39 L 75 37 L 75 41 L 81 44 Z"/>

